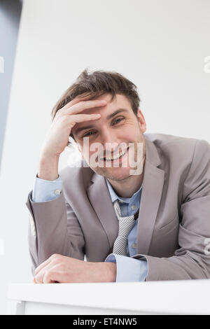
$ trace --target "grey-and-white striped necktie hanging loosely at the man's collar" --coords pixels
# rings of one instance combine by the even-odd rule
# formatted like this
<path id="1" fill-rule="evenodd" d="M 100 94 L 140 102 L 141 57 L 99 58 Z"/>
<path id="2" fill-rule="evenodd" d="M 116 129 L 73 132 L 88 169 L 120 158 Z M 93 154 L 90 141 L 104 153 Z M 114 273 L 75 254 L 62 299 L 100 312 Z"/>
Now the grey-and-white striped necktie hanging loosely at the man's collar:
<path id="1" fill-rule="evenodd" d="M 113 207 L 115 209 L 119 224 L 118 237 L 116 238 L 116 241 L 113 244 L 113 253 L 126 256 L 127 237 L 130 233 L 130 230 L 132 230 L 132 228 L 134 227 L 134 215 L 121 217 L 120 205 L 118 200 L 113 202 Z"/>

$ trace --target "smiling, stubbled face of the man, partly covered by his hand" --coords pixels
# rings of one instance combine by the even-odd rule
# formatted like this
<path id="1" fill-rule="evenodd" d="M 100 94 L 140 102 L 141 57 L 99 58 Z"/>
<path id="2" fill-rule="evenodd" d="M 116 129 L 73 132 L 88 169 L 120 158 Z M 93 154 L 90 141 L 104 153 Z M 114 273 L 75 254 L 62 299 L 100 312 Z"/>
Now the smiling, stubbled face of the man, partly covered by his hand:
<path id="1" fill-rule="evenodd" d="M 83 158 L 94 172 L 113 181 L 128 179 L 137 169 L 134 163 L 141 162 L 141 167 L 143 164 L 144 116 L 140 109 L 138 116 L 135 116 L 129 100 L 123 94 L 117 94 L 112 102 L 111 94 L 104 94 L 98 99 L 106 100 L 107 104 L 81 113 L 100 113 L 101 117 L 77 123 L 71 132 Z"/>

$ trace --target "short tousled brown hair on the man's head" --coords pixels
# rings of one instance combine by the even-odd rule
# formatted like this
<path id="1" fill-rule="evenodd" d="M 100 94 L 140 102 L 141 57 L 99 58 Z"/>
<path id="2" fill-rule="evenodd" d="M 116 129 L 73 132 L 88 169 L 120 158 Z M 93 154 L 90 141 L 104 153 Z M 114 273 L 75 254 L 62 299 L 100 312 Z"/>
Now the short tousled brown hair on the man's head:
<path id="1" fill-rule="evenodd" d="M 137 116 L 140 98 L 137 86 L 134 83 L 117 72 L 94 71 L 88 73 L 87 69 L 85 69 L 53 107 L 51 113 L 52 120 L 59 109 L 62 109 L 63 106 L 78 96 L 87 97 L 90 95 L 89 99 L 97 99 L 97 97 L 107 93 L 112 95 L 111 101 L 116 98 L 116 94 L 124 94 L 130 101 L 132 110 Z M 73 134 L 70 134 L 70 136 L 73 138 Z"/>

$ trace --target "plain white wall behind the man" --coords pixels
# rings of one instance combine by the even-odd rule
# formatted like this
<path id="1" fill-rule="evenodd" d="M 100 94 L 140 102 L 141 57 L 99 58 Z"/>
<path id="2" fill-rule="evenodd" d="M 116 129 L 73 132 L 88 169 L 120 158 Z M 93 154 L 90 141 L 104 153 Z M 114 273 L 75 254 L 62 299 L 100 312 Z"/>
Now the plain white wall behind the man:
<path id="1" fill-rule="evenodd" d="M 24 1 L 1 164 L 0 312 L 8 283 L 32 280 L 25 202 L 58 97 L 86 67 L 118 71 L 139 87 L 148 132 L 210 141 L 209 36 L 209 0 Z"/>

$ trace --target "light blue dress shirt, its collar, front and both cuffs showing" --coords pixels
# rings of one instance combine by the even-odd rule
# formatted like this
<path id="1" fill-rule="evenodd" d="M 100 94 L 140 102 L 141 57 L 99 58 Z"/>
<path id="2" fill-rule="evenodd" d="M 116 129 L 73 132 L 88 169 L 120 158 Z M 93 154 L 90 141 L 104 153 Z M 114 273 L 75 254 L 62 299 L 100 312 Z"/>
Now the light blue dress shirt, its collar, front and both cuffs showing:
<path id="1" fill-rule="evenodd" d="M 141 202 L 141 188 L 130 198 L 118 197 L 113 190 L 109 181 L 105 178 L 107 188 L 111 197 L 111 201 L 118 200 L 120 204 L 121 216 L 130 216 L 135 214 Z M 32 193 L 32 200 L 34 202 L 48 202 L 54 200 L 62 191 L 62 179 L 58 177 L 55 181 L 46 181 L 36 177 L 34 182 L 34 189 Z M 146 258 L 135 259 L 130 256 L 137 253 L 137 225 L 136 223 L 127 237 L 127 256 L 111 253 L 106 257 L 104 262 L 116 262 L 116 282 L 125 281 L 145 281 L 148 274 L 148 265 Z"/>

